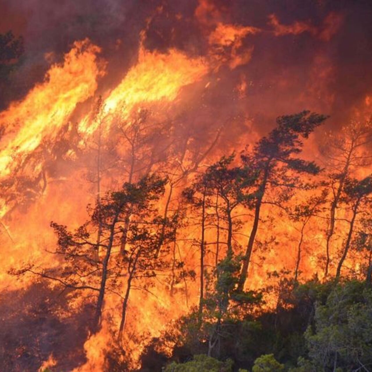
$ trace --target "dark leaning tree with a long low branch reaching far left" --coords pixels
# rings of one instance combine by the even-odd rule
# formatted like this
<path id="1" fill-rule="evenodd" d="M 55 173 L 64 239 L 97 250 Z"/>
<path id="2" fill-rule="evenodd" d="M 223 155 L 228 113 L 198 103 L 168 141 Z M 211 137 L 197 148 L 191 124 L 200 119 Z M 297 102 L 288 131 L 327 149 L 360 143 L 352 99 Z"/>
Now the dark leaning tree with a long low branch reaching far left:
<path id="1" fill-rule="evenodd" d="M 97 292 L 92 331 L 99 329 L 103 301 L 107 290 L 117 293 L 117 279 L 123 267 L 111 260 L 113 250 L 119 250 L 125 216 L 130 208 L 143 223 L 151 225 L 149 212 L 164 192 L 166 180 L 148 176 L 137 183 L 124 183 L 119 191 L 102 196 L 94 208 L 88 207 L 90 219 L 74 232 L 64 225 L 51 223 L 58 237 L 56 254 L 64 257 L 65 265 L 60 272 L 55 269 L 25 267 L 14 273 L 31 272 L 46 279 L 55 280 L 67 288 Z M 102 228 L 99 243 L 100 256 L 96 260 L 97 231 Z"/>

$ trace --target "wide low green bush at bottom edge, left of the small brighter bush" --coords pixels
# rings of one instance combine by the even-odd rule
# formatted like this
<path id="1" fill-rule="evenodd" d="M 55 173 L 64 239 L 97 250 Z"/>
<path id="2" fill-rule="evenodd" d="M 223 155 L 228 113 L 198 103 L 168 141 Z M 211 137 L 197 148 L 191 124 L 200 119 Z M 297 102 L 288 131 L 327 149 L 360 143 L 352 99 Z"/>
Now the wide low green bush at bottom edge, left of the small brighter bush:
<path id="1" fill-rule="evenodd" d="M 206 355 L 195 355 L 193 360 L 186 363 L 173 362 L 167 366 L 166 372 L 231 372 L 232 360 L 228 359 L 225 362 L 220 362 L 217 359 Z"/>

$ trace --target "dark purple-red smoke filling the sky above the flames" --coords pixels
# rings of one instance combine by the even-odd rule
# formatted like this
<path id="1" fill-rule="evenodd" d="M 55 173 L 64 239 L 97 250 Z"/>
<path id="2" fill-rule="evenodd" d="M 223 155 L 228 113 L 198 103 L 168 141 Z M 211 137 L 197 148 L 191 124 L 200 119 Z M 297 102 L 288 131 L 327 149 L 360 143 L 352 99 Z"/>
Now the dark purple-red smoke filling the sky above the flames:
<path id="1" fill-rule="evenodd" d="M 331 115 L 333 125 L 338 125 L 371 93 L 371 1 L 213 3 L 221 22 L 262 30 L 243 41 L 243 48 L 254 48 L 247 64 L 217 73 L 219 83 L 207 97 L 216 114 L 228 106 L 244 106 L 264 123 L 275 115 L 311 109 Z M 3 105 L 20 99 L 42 80 L 48 68 L 45 53 L 54 52 L 55 61 L 59 61 L 75 40 L 86 37 L 102 47 L 102 57 L 109 62 L 102 84 L 114 85 L 135 63 L 140 31 L 147 22 L 148 49 L 166 52 L 177 48 L 193 57 L 205 56 L 208 39 L 205 27 L 195 17 L 197 6 L 196 0 L 1 0 L 0 31 L 13 30 L 25 40 L 22 65 Z M 311 32 L 277 36 L 268 24 L 269 15 L 275 14 L 284 25 L 298 21 L 321 28 L 330 13 L 340 15 L 342 22 L 329 40 Z M 242 78 L 247 81 L 246 96 L 232 103 L 232 92 Z"/>

